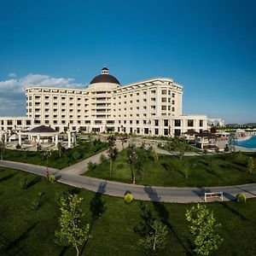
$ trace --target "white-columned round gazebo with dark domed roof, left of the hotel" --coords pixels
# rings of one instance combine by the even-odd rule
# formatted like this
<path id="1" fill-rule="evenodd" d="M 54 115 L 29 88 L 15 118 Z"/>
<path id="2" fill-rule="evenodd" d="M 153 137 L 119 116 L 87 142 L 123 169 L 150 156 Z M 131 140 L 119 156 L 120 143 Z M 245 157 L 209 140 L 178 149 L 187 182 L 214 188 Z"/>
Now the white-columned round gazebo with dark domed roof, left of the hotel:
<path id="1" fill-rule="evenodd" d="M 57 146 L 59 142 L 59 132 L 55 131 L 53 128 L 45 125 L 41 125 L 35 128 L 32 128 L 31 131 L 27 132 L 19 132 L 19 145 L 21 146 L 21 136 L 26 135 L 28 136 L 28 139 L 31 141 L 35 141 L 38 144 L 42 143 L 42 140 L 45 138 L 51 137 L 52 143 L 55 143 L 55 146 Z"/>

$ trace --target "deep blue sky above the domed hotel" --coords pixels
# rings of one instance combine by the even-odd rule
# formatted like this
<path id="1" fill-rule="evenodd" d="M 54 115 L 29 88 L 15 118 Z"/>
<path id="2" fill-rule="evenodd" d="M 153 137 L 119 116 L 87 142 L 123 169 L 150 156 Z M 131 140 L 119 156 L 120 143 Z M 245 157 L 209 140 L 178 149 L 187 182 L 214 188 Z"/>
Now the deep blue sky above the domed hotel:
<path id="1" fill-rule="evenodd" d="M 254 0 L 0 0 L 0 116 L 26 114 L 28 85 L 183 85 L 183 113 L 256 122 Z"/>

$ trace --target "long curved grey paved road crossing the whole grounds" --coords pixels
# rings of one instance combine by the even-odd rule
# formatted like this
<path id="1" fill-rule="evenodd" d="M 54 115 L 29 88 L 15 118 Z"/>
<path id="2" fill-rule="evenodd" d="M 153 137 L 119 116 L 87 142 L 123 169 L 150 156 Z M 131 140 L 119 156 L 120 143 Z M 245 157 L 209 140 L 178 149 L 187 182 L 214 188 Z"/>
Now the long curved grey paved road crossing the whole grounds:
<path id="1" fill-rule="evenodd" d="M 0 160 L 0 166 L 32 172 L 42 176 L 45 176 L 46 173 L 46 167 L 44 166 L 35 166 L 12 161 Z M 49 168 L 49 172 L 55 173 L 55 176 L 61 183 L 119 197 L 123 197 L 126 191 L 131 191 L 135 199 L 143 201 L 165 201 L 179 203 L 201 202 L 203 201 L 205 191 L 224 192 L 224 201 L 234 200 L 238 192 L 245 193 L 247 198 L 256 197 L 256 183 L 228 187 L 163 188 L 117 183 L 93 177 L 72 175 L 53 168 Z"/>

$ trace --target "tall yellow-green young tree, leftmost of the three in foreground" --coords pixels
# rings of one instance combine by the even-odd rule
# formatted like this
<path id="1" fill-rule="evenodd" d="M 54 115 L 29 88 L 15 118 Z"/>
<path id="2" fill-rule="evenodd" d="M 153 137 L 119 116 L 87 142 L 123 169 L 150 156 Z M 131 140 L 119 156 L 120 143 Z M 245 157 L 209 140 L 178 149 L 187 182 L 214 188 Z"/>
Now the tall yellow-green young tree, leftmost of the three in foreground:
<path id="1" fill-rule="evenodd" d="M 75 247 L 77 256 L 79 256 L 79 247 L 89 238 L 89 224 L 82 223 L 84 213 L 80 208 L 82 197 L 79 195 L 68 195 L 61 197 L 59 218 L 60 230 L 55 231 L 56 242 L 62 246 Z"/>

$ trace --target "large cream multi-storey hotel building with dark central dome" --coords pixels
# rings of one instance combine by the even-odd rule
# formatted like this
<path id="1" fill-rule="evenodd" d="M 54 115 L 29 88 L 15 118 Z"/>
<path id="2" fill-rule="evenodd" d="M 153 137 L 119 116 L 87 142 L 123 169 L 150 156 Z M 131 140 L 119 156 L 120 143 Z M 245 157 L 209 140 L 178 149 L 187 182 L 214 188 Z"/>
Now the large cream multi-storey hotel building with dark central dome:
<path id="1" fill-rule="evenodd" d="M 56 131 L 81 129 L 181 136 L 190 129 L 207 130 L 207 116 L 182 114 L 182 97 L 183 86 L 172 79 L 156 78 L 120 85 L 108 74 L 108 68 L 103 67 L 102 74 L 82 90 L 27 87 L 26 118 L 23 119 L 31 120 L 31 127 L 50 125 Z M 5 130 L 10 125 L 2 127 Z"/>

